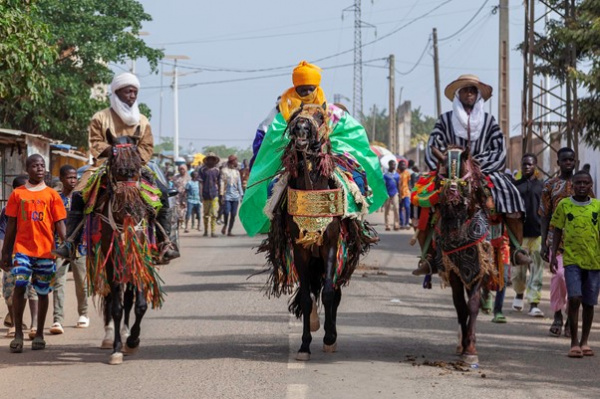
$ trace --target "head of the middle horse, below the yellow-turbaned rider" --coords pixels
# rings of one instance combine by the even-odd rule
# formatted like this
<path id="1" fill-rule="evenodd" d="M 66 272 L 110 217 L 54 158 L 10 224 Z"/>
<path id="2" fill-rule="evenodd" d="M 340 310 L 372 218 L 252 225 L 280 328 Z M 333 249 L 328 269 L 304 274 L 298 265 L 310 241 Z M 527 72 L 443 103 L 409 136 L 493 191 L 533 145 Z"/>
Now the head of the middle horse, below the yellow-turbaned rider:
<path id="1" fill-rule="evenodd" d="M 288 135 L 296 151 L 319 152 L 323 142 L 329 139 L 326 109 L 313 104 L 301 105 L 290 118 Z"/>

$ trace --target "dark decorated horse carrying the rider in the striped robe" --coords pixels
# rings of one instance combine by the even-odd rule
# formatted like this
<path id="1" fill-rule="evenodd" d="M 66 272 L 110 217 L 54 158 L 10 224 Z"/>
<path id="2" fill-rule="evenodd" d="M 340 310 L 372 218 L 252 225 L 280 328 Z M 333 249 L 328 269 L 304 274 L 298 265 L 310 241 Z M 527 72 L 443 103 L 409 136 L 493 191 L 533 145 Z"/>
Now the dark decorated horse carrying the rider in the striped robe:
<path id="1" fill-rule="evenodd" d="M 465 362 L 476 364 L 475 324 L 480 287 L 484 277 L 495 273 L 488 241 L 491 197 L 479 165 L 468 149 L 450 148 L 442 154 L 432 148 L 432 152 L 439 161 L 436 264 L 444 283 L 452 287 L 460 325 L 457 353 Z"/>

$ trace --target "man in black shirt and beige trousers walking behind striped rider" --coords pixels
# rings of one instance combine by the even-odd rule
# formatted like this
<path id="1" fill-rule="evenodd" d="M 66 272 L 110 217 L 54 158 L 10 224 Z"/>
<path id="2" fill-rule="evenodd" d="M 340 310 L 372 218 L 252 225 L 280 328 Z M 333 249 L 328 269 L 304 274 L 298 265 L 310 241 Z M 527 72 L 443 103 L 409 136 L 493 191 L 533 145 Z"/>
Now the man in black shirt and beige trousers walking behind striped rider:
<path id="1" fill-rule="evenodd" d="M 544 317 L 544 312 L 538 307 L 542 299 L 544 265 L 540 255 L 542 249 L 541 219 L 537 213 L 544 184 L 537 178 L 536 168 L 537 157 L 534 154 L 523 155 L 521 159 L 522 177 L 516 181 L 515 187 L 519 190 L 525 205 L 523 248 L 529 251 L 533 262 L 529 266 L 513 265 L 511 280 L 516 296 L 512 307 L 518 312 L 523 310 L 523 294 L 527 289 L 529 316 Z M 527 279 L 527 270 L 529 270 L 529 279 Z"/>

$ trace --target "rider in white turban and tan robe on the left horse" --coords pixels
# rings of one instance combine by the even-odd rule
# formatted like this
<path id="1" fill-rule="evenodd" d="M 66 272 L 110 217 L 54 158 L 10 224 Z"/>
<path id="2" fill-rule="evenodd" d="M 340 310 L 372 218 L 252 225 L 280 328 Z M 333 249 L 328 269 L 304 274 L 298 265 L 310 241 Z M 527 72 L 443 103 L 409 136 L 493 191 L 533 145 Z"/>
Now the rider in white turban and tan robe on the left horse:
<path id="1" fill-rule="evenodd" d="M 85 188 L 90 176 L 106 162 L 111 151 L 111 145 L 108 143 L 107 134 L 112 134 L 113 138 L 122 136 L 131 136 L 135 138 L 136 145 L 142 164 L 146 165 L 152 158 L 154 152 L 154 140 L 152 129 L 148 119 L 140 113 L 137 96 L 140 88 L 138 78 L 131 73 L 122 73 L 115 76 L 110 89 L 110 107 L 97 112 L 90 122 L 89 142 L 90 153 L 94 158 L 94 164 L 88 168 L 73 193 L 71 212 L 67 218 L 67 237 L 55 251 L 54 254 L 63 258 L 71 258 L 73 249 L 81 239 L 81 234 L 76 232 L 81 220 L 83 219 L 84 201 L 81 191 Z M 168 196 L 167 188 L 156 179 L 157 186 L 162 192 L 162 207 L 156 216 L 156 221 L 163 227 L 165 233 L 157 234 L 159 247 L 164 251 L 162 260 L 169 261 L 178 258 L 179 252 L 169 241 L 170 221 L 168 215 Z"/>

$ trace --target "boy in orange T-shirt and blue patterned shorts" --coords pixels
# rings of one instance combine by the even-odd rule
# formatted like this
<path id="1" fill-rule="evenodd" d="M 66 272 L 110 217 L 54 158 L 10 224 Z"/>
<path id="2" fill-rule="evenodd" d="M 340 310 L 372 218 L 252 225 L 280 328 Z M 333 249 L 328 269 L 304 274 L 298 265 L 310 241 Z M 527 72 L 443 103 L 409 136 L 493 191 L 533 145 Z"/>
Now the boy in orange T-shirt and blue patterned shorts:
<path id="1" fill-rule="evenodd" d="M 15 339 L 10 343 L 10 351 L 23 352 L 23 310 L 24 294 L 29 279 L 39 298 L 38 328 L 31 343 L 31 349 L 46 348 L 44 322 L 48 312 L 48 293 L 56 271 L 56 263 L 51 251 L 54 248 L 54 232 L 62 241 L 66 239 L 64 220 L 67 211 L 60 195 L 44 183 L 46 163 L 39 154 L 31 155 L 25 163 L 29 180 L 24 186 L 15 189 L 6 205 L 6 236 L 2 246 L 0 267 L 15 277 L 13 293 Z"/>

